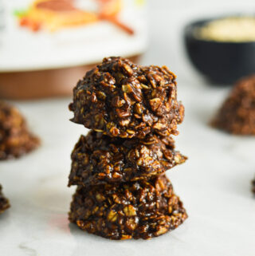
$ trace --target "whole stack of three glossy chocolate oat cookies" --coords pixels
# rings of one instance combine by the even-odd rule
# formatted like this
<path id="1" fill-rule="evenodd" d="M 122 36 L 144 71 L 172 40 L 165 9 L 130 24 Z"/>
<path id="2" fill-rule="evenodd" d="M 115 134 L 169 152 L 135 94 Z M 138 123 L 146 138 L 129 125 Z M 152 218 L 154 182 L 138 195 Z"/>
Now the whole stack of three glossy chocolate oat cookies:
<path id="1" fill-rule="evenodd" d="M 111 239 L 152 238 L 186 218 L 165 171 L 184 163 L 178 135 L 183 105 L 175 74 L 104 58 L 73 89 L 73 122 L 92 129 L 72 153 L 69 186 L 77 185 L 69 220 Z"/>

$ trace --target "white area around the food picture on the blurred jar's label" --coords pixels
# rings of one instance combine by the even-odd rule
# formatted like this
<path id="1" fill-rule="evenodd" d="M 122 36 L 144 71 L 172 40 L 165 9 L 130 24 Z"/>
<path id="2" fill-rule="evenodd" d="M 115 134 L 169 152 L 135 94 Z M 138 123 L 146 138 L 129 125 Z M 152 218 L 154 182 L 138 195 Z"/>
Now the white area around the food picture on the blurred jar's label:
<path id="1" fill-rule="evenodd" d="M 18 26 L 13 12 L 31 1 L 5 0 L 5 30 L 0 31 L 0 72 L 56 69 L 88 65 L 106 56 L 134 56 L 147 47 L 144 7 L 124 1 L 120 20 L 135 30 L 133 36 L 109 22 L 37 33 Z"/>

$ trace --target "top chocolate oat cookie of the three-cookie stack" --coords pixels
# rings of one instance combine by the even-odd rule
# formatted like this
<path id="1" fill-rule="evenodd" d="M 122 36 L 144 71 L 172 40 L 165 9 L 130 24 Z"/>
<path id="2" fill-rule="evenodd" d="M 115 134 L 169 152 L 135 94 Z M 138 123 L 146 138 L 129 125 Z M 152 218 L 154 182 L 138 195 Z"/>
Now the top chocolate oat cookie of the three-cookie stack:
<path id="1" fill-rule="evenodd" d="M 177 135 L 184 107 L 177 100 L 175 78 L 166 66 L 104 58 L 73 89 L 72 120 L 112 137 Z"/>

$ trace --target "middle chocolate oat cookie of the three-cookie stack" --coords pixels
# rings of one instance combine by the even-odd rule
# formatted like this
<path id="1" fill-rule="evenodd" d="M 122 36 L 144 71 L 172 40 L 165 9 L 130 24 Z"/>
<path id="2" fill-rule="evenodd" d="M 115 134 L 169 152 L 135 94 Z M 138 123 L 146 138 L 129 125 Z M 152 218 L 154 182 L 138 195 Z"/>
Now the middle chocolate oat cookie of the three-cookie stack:
<path id="1" fill-rule="evenodd" d="M 80 136 L 73 149 L 69 186 L 151 179 L 186 161 L 174 148 L 169 136 L 148 135 L 139 140 L 89 132 Z"/>

